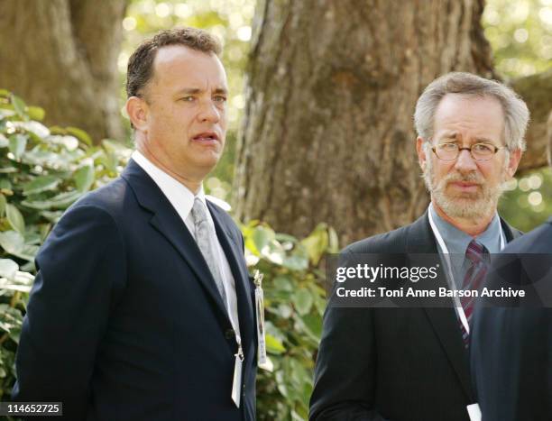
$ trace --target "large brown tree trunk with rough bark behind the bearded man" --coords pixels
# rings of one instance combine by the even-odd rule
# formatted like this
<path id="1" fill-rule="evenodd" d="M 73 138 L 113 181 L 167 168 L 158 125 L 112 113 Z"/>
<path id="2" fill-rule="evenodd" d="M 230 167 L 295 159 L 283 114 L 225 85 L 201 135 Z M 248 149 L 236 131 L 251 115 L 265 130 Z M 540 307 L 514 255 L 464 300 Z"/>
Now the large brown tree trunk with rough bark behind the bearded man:
<path id="1" fill-rule="evenodd" d="M 260 1 L 235 204 L 243 220 L 342 243 L 408 224 L 428 195 L 412 114 L 451 70 L 491 77 L 483 0 Z"/>

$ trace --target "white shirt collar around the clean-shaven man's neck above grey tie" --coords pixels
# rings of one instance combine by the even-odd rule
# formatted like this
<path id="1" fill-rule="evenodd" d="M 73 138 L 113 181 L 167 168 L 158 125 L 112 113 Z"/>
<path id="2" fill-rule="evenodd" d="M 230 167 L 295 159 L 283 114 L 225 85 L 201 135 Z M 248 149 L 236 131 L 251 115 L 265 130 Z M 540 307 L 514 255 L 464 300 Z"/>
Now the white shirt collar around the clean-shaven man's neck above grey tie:
<path id="1" fill-rule="evenodd" d="M 171 205 L 174 206 L 183 220 L 186 220 L 191 212 L 196 197 L 207 206 L 203 185 L 200 186 L 198 194 L 194 196 L 189 188 L 153 164 L 151 160 L 143 156 L 141 151 L 133 151 L 131 158 L 153 178 L 155 184 L 161 188 L 163 194 L 169 199 Z"/>

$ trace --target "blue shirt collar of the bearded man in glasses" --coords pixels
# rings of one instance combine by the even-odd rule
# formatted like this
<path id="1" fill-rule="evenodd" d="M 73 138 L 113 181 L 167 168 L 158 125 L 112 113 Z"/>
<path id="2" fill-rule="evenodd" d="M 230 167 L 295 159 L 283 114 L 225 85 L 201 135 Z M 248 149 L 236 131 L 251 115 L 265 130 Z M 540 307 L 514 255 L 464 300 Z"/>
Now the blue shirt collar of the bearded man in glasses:
<path id="1" fill-rule="evenodd" d="M 474 237 L 464 231 L 459 230 L 453 224 L 446 222 L 441 218 L 432 203 L 429 204 L 429 212 L 443 240 L 446 243 L 449 253 L 465 254 L 467 246 L 474 240 Z M 487 229 L 476 237 L 478 243 L 482 243 L 490 253 L 501 251 L 501 219 L 497 212 L 492 217 L 491 224 Z"/>

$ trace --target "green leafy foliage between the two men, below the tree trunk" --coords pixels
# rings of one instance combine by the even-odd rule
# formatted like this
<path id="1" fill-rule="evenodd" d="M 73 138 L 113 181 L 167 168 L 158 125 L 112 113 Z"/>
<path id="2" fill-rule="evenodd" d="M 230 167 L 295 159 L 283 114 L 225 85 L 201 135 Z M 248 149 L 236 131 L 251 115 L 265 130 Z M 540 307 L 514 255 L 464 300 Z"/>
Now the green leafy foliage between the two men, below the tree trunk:
<path id="1" fill-rule="evenodd" d="M 317 265 L 326 252 L 337 252 L 336 233 L 319 224 L 298 241 L 256 221 L 242 232 L 248 264 L 264 274 L 266 342 L 273 364 L 273 371 L 259 371 L 257 417 L 307 419 L 326 307 L 324 273 Z"/>

